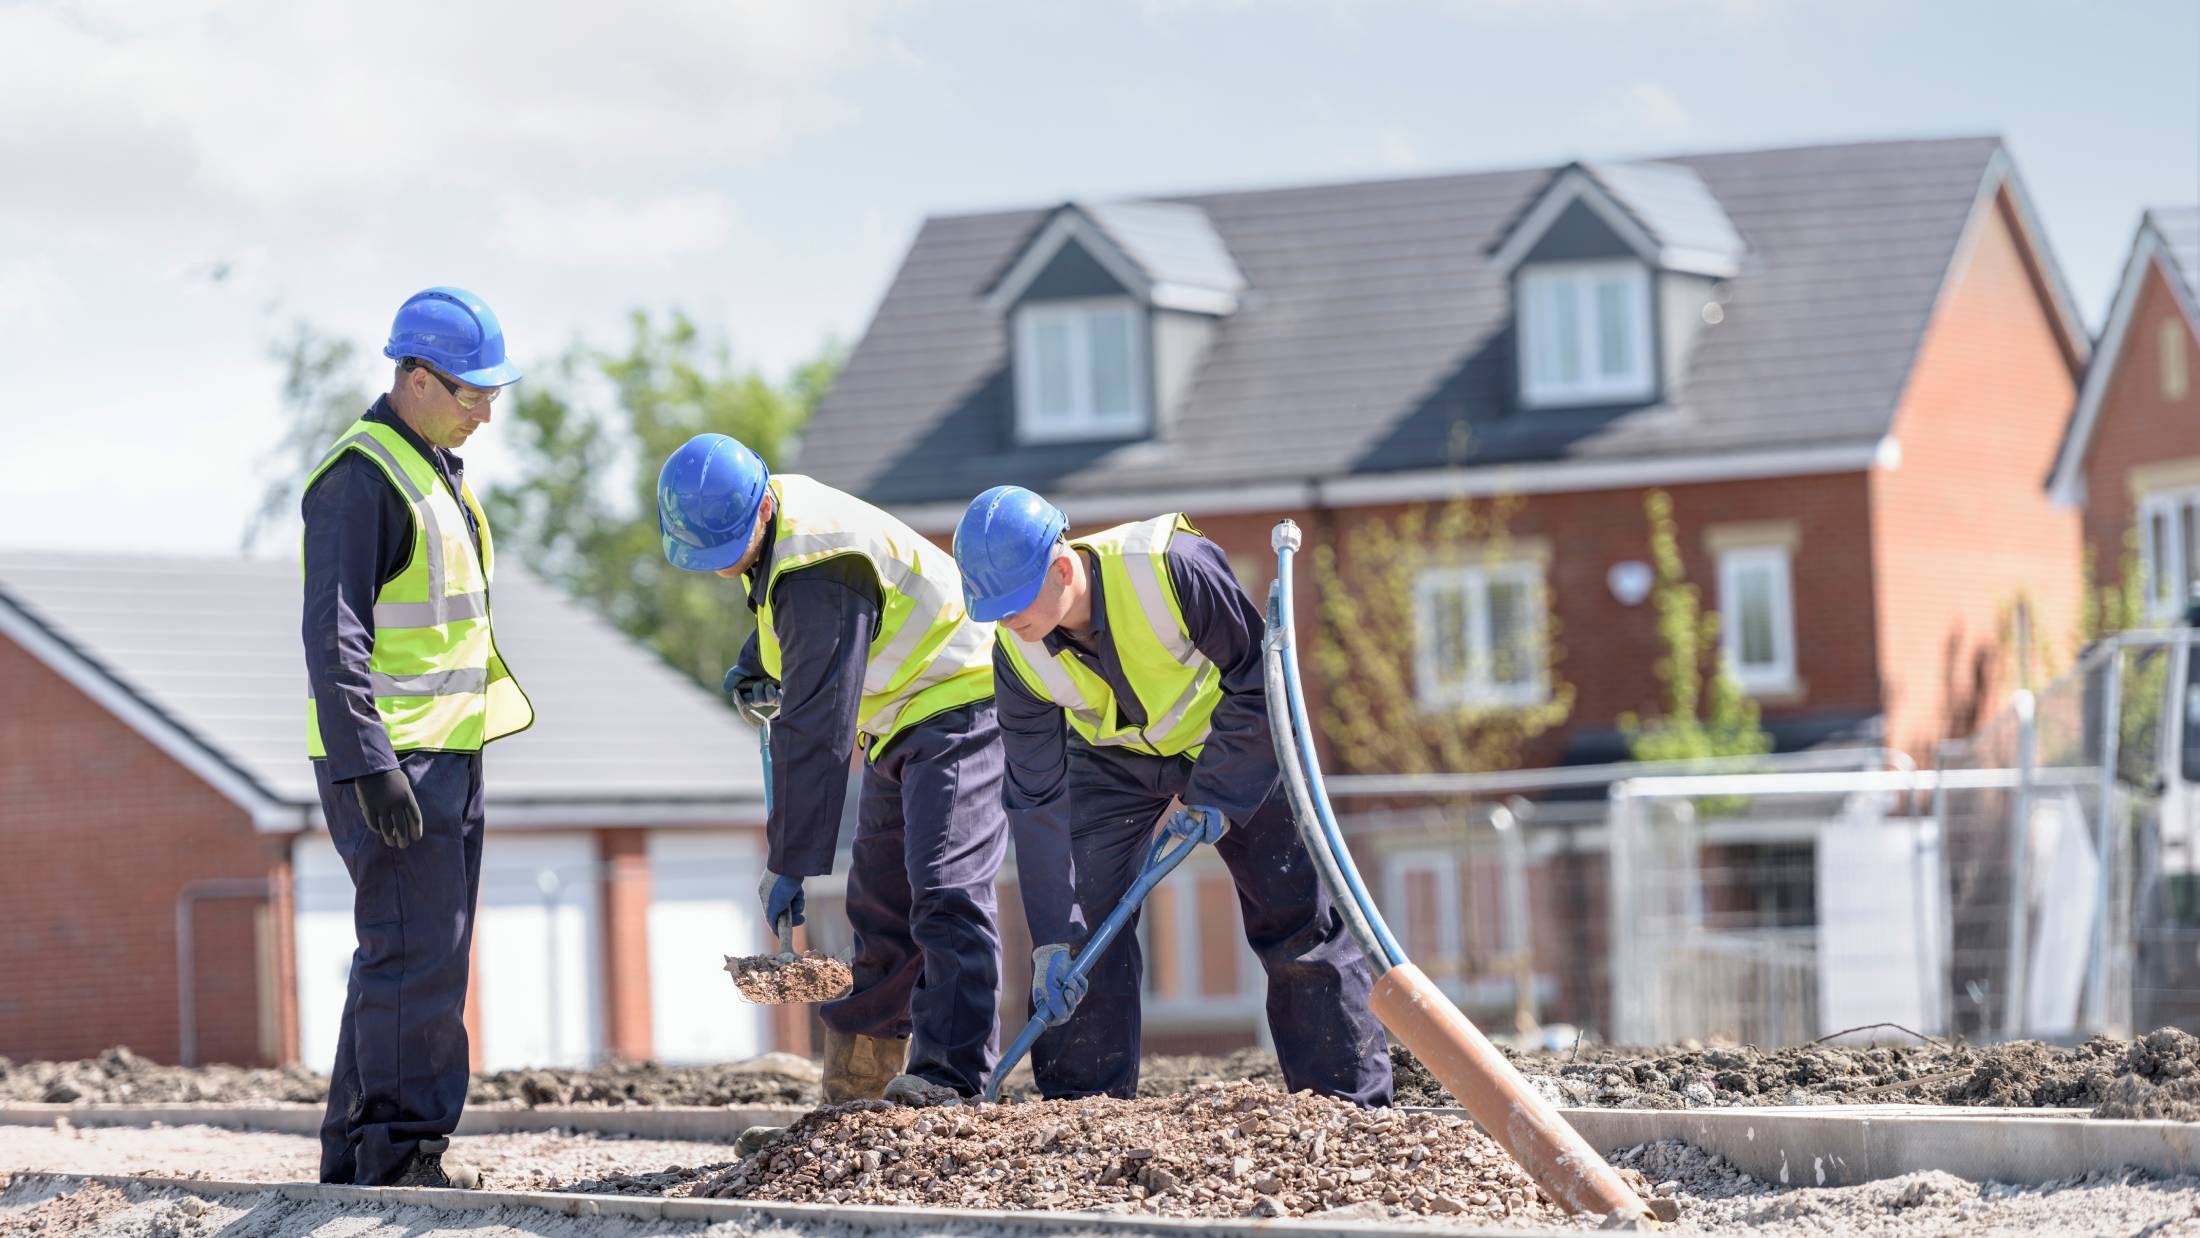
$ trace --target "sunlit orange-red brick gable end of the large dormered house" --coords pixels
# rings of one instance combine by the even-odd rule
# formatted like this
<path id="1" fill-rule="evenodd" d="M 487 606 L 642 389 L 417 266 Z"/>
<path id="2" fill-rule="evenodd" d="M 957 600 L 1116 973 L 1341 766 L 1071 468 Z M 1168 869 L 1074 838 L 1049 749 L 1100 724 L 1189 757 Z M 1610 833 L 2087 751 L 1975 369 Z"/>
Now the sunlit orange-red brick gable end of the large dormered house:
<path id="1" fill-rule="evenodd" d="M 2006 198 L 1976 222 L 1872 473 L 1888 739 L 1918 761 L 2015 686 L 2020 598 L 2061 664 L 2077 622 L 2079 521 L 2046 495 L 2077 389 L 2017 235 Z"/>

